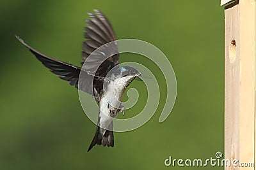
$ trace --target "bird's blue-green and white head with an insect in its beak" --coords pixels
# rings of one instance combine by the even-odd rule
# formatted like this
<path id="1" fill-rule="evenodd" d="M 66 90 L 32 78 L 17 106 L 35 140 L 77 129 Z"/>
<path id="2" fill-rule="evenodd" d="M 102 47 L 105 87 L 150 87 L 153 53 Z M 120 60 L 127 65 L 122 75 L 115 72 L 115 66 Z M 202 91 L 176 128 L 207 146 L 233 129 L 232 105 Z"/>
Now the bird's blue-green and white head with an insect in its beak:
<path id="1" fill-rule="evenodd" d="M 132 82 L 132 80 L 134 80 L 134 78 L 138 78 L 139 76 L 141 76 L 141 73 L 134 67 L 123 66 L 120 67 L 120 76 L 122 77 L 122 79 L 125 80 L 126 88 Z"/>

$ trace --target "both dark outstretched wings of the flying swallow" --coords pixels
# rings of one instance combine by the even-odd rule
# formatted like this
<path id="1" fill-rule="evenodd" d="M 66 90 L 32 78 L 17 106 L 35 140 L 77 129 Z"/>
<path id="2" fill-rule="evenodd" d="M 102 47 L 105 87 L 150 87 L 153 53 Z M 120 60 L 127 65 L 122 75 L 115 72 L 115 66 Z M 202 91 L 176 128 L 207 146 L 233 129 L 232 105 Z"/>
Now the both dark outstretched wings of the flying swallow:
<path id="1" fill-rule="evenodd" d="M 31 48 L 31 46 L 27 45 L 18 36 L 16 36 L 16 38 L 19 39 L 45 67 L 48 67 L 52 73 L 68 81 L 70 85 L 75 86 L 77 89 L 92 94 L 95 100 L 99 102 L 103 80 L 113 67 L 118 66 L 119 55 L 115 41 L 115 33 L 111 24 L 103 13 L 99 10 L 94 11 L 96 15 L 88 13 L 90 19 L 86 20 L 88 26 L 85 27 L 84 37 L 87 40 L 83 43 L 82 62 L 84 63 L 86 60 L 86 64 L 83 68 L 48 57 Z M 106 45 L 106 43 L 108 44 Z"/>

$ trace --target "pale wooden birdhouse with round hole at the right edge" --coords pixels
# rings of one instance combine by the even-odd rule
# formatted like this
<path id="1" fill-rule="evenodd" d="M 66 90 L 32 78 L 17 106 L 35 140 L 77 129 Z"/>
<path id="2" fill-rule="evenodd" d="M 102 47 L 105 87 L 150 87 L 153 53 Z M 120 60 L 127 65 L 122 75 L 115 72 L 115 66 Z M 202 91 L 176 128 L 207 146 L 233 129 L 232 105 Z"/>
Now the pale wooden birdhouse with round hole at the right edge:
<path id="1" fill-rule="evenodd" d="M 221 0 L 225 6 L 225 169 L 255 165 L 255 0 Z"/>

